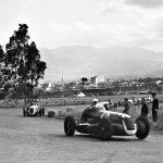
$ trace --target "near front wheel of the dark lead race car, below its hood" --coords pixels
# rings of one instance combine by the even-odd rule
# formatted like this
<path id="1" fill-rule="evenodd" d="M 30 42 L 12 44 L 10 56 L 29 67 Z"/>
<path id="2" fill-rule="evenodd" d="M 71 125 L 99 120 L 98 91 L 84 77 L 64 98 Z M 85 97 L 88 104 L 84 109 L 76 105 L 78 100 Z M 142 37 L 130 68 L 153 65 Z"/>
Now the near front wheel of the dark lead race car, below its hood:
<path id="1" fill-rule="evenodd" d="M 111 139 L 113 134 L 113 127 L 110 120 L 102 118 L 100 123 L 100 138 L 102 140 L 109 140 Z"/>

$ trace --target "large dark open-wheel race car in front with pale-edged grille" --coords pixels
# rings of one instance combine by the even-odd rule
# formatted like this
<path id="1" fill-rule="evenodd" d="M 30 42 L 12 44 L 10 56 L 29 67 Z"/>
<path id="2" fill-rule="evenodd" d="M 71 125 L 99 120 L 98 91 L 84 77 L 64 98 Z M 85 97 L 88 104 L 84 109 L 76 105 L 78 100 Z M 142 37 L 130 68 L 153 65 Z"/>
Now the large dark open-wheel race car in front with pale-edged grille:
<path id="1" fill-rule="evenodd" d="M 83 110 L 79 122 L 74 116 L 67 115 L 64 120 L 65 135 L 73 136 L 75 131 L 78 131 L 109 140 L 112 136 L 134 135 L 139 139 L 145 139 L 150 133 L 150 124 L 143 116 L 133 121 L 128 114 L 106 111 L 104 106 L 96 109 L 91 117 L 88 116 L 88 112 L 91 112 L 90 108 Z"/>

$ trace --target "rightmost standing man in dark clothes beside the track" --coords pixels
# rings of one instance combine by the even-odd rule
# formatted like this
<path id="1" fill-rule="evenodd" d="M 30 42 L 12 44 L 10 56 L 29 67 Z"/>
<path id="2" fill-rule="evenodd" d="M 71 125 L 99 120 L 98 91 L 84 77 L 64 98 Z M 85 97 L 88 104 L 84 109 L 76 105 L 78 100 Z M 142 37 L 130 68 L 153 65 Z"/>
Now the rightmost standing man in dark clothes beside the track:
<path id="1" fill-rule="evenodd" d="M 153 92 L 152 97 L 153 97 L 153 101 L 152 101 L 152 117 L 153 117 L 153 122 L 158 122 L 159 100 L 156 98 L 156 92 Z"/>

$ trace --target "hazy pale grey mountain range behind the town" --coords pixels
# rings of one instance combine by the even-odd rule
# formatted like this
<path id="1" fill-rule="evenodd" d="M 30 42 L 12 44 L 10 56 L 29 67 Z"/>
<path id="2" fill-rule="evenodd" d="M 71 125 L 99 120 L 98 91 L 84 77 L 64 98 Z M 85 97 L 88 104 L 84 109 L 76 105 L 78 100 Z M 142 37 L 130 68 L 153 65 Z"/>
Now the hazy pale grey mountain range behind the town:
<path id="1" fill-rule="evenodd" d="M 71 46 L 40 49 L 47 62 L 46 80 L 106 76 L 141 77 L 163 74 L 163 54 L 151 50 L 126 47 L 95 48 Z"/>

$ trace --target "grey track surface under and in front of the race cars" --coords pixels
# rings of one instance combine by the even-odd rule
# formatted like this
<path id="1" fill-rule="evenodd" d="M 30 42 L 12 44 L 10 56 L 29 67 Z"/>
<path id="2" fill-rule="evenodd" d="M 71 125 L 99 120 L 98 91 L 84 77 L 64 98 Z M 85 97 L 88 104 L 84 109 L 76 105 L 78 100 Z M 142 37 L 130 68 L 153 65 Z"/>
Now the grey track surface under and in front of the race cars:
<path id="1" fill-rule="evenodd" d="M 163 163 L 163 135 L 110 141 L 79 134 L 66 137 L 62 121 L 1 109 L 0 163 Z"/>

